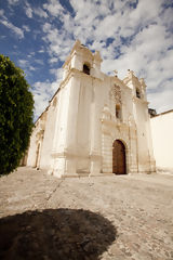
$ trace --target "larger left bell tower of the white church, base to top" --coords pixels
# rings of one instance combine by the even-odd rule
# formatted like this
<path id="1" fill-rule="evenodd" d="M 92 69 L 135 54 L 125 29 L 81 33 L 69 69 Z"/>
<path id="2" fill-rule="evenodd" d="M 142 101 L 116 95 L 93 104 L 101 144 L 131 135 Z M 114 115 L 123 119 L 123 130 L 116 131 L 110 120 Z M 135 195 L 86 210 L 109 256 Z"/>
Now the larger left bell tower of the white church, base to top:
<path id="1" fill-rule="evenodd" d="M 94 151 L 94 82 L 101 80 L 101 55 L 92 53 L 79 40 L 63 65 L 59 109 L 52 150 L 53 174 L 70 176 L 96 171 Z M 80 158 L 79 158 L 80 157 Z"/>

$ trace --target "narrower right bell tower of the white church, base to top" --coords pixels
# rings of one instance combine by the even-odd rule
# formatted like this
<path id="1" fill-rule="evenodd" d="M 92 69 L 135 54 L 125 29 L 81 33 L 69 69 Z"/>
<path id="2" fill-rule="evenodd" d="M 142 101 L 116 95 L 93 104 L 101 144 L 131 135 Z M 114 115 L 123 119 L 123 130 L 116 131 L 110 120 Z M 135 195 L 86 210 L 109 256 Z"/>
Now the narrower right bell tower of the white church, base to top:
<path id="1" fill-rule="evenodd" d="M 155 171 L 155 159 L 150 138 L 148 106 L 146 102 L 146 86 L 144 79 L 137 79 L 130 70 L 123 82 L 132 89 L 133 115 L 136 126 L 136 159 L 138 172 Z M 136 89 L 141 92 L 141 99 L 136 98 Z M 130 120 L 131 121 L 131 120 Z M 132 122 L 133 125 L 133 122 Z M 134 145 L 134 142 L 133 142 Z"/>

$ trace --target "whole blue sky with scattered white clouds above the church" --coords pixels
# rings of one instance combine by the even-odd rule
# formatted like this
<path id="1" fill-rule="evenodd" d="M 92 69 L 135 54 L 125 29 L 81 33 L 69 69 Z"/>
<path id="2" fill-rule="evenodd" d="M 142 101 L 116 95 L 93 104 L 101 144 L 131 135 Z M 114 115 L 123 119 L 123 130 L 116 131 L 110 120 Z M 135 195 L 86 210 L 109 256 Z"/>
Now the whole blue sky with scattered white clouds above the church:
<path id="1" fill-rule="evenodd" d="M 0 0 L 0 53 L 25 72 L 35 119 L 76 39 L 101 52 L 105 74 L 144 78 L 149 107 L 173 109 L 173 0 Z"/>

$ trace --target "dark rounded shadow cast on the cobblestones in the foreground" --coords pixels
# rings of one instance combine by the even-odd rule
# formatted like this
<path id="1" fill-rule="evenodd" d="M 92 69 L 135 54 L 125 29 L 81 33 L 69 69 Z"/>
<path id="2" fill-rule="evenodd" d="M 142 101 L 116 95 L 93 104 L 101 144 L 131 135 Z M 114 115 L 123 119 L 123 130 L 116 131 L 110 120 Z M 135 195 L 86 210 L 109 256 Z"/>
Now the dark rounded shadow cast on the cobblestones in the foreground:
<path id="1" fill-rule="evenodd" d="M 116 236 L 110 221 L 89 210 L 26 211 L 0 219 L 0 259 L 96 260 Z"/>

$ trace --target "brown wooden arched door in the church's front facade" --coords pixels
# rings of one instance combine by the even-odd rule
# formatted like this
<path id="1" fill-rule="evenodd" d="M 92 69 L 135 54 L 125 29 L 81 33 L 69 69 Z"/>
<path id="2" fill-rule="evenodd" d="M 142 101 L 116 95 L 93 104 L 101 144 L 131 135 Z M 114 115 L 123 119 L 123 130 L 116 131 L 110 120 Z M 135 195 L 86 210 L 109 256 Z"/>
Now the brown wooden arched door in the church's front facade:
<path id="1" fill-rule="evenodd" d="M 127 174 L 125 146 L 120 140 L 112 144 L 112 173 Z"/>

